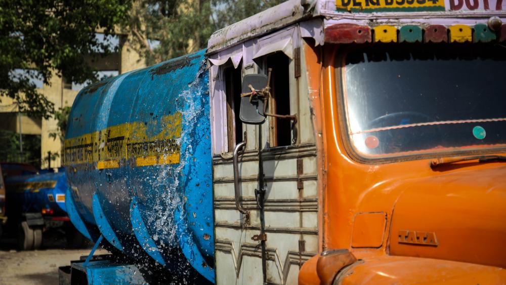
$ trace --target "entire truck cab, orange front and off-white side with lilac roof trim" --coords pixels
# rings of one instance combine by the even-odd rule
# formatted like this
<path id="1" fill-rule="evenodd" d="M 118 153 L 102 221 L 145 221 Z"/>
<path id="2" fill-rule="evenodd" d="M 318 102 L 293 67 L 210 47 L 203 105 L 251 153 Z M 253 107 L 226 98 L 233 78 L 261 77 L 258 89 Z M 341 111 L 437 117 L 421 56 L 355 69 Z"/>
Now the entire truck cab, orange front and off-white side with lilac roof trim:
<path id="1" fill-rule="evenodd" d="M 505 6 L 287 1 L 213 34 L 217 283 L 505 283 Z"/>

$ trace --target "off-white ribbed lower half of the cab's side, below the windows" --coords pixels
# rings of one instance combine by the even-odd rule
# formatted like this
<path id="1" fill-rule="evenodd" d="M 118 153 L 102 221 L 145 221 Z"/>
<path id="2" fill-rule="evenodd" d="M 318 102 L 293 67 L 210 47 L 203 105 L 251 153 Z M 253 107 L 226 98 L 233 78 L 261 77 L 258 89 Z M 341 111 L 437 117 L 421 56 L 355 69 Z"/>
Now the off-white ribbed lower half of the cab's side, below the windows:
<path id="1" fill-rule="evenodd" d="M 316 148 L 306 144 L 282 152 L 264 153 L 267 280 L 296 284 L 299 267 L 318 252 Z M 262 283 L 261 250 L 259 243 L 251 240 L 260 233 L 255 199 L 257 159 L 256 152 L 247 151 L 239 163 L 241 203 L 250 212 L 249 222 L 235 207 L 231 162 L 218 157 L 213 161 L 218 284 L 231 280 L 237 284 Z M 298 181 L 302 182 L 302 189 Z"/>

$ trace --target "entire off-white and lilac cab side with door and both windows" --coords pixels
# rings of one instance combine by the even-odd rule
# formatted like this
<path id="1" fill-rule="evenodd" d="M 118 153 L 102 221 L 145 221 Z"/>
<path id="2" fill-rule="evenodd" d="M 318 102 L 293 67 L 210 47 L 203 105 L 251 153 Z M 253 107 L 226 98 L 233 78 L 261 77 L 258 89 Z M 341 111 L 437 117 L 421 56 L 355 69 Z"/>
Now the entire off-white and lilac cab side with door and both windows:
<path id="1" fill-rule="evenodd" d="M 210 55 L 218 284 L 296 284 L 318 252 L 316 146 L 301 42 L 291 26 Z M 245 124 L 245 75 L 269 69 L 267 113 L 288 118 Z"/>

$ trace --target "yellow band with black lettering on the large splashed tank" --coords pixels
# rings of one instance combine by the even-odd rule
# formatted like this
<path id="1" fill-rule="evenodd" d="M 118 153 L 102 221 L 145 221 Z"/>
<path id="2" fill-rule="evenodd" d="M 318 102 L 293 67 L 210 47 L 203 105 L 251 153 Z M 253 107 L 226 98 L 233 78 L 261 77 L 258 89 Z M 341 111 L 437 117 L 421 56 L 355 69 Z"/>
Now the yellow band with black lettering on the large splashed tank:
<path id="1" fill-rule="evenodd" d="M 67 139 L 64 165 L 97 162 L 97 169 L 118 168 L 122 159 L 135 159 L 140 167 L 179 163 L 181 121 L 178 112 L 160 120 L 120 124 Z"/>

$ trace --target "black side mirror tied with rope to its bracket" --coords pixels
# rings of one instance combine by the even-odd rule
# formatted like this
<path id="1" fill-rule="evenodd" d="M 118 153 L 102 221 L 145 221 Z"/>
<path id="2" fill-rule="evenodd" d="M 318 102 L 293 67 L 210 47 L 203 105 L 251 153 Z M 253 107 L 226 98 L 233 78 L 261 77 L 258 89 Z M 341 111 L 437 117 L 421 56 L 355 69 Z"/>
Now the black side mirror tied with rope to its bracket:
<path id="1" fill-rule="evenodd" d="M 267 87 L 269 80 L 265 74 L 247 74 L 242 78 L 242 93 L 249 93 L 253 87 L 255 90 L 262 90 Z M 259 125 L 264 123 L 264 102 L 258 96 L 244 96 L 241 98 L 239 118 L 244 124 Z"/>

